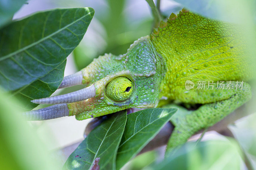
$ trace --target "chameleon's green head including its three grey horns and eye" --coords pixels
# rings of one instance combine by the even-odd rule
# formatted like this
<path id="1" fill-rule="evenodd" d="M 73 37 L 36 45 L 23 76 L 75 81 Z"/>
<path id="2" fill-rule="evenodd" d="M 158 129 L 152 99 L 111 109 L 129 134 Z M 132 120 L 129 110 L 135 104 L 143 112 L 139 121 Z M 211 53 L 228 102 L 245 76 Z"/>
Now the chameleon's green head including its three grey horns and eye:
<path id="1" fill-rule="evenodd" d="M 85 84 L 86 88 L 32 100 L 34 103 L 56 105 L 26 112 L 26 115 L 31 120 L 71 115 L 84 120 L 124 109 L 156 107 L 164 75 L 164 65 L 158 57 L 149 37 L 142 37 L 131 45 L 126 54 L 100 56 L 86 68 L 65 77 L 60 85 L 64 88 Z"/>

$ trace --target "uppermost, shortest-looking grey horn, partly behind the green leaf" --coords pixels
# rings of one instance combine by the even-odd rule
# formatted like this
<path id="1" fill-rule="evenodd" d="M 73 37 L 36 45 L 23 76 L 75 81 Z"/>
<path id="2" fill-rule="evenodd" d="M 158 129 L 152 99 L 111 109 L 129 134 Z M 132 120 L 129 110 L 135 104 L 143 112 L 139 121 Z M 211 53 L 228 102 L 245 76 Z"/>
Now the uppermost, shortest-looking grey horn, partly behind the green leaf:
<path id="1" fill-rule="evenodd" d="M 74 74 L 64 77 L 58 89 L 71 87 L 74 85 L 81 85 L 83 82 L 82 80 L 83 80 L 82 71 L 78 71 Z"/>

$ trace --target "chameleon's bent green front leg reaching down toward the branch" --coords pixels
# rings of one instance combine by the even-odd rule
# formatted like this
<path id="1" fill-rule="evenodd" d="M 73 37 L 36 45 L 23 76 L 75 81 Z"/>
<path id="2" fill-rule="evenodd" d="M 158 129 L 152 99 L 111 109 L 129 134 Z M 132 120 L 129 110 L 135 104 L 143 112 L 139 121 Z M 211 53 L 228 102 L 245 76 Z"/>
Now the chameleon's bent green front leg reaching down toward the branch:
<path id="1" fill-rule="evenodd" d="M 204 104 L 183 116 L 177 115 L 177 119 L 172 121 L 175 128 L 168 141 L 167 150 L 184 144 L 198 130 L 219 122 L 252 96 L 251 87 L 247 83 L 244 83 L 243 89 L 223 89 L 222 91 L 224 94 L 222 97 L 225 100 Z"/>

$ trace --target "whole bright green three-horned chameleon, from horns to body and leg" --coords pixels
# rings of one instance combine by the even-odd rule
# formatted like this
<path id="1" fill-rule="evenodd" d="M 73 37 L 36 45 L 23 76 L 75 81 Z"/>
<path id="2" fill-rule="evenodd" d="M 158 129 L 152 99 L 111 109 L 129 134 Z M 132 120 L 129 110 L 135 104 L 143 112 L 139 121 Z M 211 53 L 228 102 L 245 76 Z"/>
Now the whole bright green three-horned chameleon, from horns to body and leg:
<path id="1" fill-rule="evenodd" d="M 86 88 L 32 100 L 55 104 L 25 114 L 30 120 L 76 115 L 84 120 L 128 109 L 128 113 L 160 106 L 162 101 L 201 104 L 173 120 L 169 146 L 183 144 L 196 131 L 219 122 L 248 101 L 255 68 L 238 25 L 205 18 L 186 9 L 171 14 L 150 36 L 141 37 L 124 55 L 105 54 L 63 79 L 59 88 Z M 190 80 L 215 83 L 214 88 L 186 90 Z M 244 81 L 242 89 L 218 89 L 218 81 Z"/>

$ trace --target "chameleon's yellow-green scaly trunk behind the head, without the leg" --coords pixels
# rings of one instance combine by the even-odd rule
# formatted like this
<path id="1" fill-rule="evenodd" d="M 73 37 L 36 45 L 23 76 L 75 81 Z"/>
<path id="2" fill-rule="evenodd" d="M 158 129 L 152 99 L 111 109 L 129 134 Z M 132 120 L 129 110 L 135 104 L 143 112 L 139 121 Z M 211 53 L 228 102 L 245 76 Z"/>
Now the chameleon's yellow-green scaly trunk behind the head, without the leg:
<path id="1" fill-rule="evenodd" d="M 248 52 L 238 26 L 181 11 L 151 34 L 156 52 L 165 58 L 161 94 L 177 99 L 185 82 L 228 81 L 250 78 Z M 181 93 L 182 92 L 182 93 Z"/>

